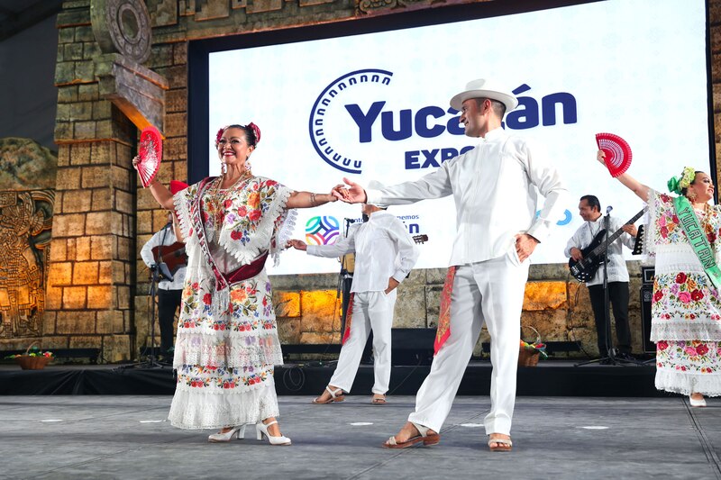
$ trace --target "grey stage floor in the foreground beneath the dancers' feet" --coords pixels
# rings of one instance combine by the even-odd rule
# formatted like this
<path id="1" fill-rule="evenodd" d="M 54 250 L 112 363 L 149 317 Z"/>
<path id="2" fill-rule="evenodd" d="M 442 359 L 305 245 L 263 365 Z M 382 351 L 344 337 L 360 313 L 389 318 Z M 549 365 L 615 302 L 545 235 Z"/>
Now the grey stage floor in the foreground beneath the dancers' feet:
<path id="1" fill-rule="evenodd" d="M 367 395 L 313 405 L 278 398 L 290 447 L 206 441 L 178 430 L 169 395 L 0 396 L 0 477 L 75 478 L 721 478 L 721 399 L 691 409 L 680 396 L 521 396 L 514 451 L 491 453 L 480 424 L 488 396 L 459 396 L 441 443 L 380 448 L 412 396 L 376 406 Z"/>

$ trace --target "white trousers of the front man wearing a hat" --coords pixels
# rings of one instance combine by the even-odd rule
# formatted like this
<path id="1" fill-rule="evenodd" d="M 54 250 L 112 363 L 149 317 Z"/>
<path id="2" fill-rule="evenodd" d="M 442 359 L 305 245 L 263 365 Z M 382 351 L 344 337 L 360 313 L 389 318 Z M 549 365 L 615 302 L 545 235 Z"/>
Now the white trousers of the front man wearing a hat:
<path id="1" fill-rule="evenodd" d="M 527 259 L 519 264 L 514 250 L 504 257 L 458 267 L 451 296 L 451 335 L 418 390 L 409 421 L 441 431 L 486 322 L 492 373 L 491 408 L 484 424 L 487 434 L 510 434 L 528 266 Z"/>

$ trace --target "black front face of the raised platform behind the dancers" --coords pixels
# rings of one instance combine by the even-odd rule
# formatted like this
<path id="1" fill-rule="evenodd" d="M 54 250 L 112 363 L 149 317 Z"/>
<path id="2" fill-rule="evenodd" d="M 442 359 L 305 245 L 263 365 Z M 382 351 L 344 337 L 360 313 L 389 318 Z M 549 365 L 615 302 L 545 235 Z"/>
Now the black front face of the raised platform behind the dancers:
<path id="1" fill-rule="evenodd" d="M 664 397 L 656 391 L 652 365 L 575 367 L 570 361 L 539 362 L 538 367 L 518 368 L 519 396 L 621 396 Z M 276 367 L 278 395 L 315 395 L 328 384 L 334 362 L 306 362 Z M 415 395 L 428 375 L 429 366 L 394 366 L 390 394 Z M 470 362 L 458 394 L 488 395 L 491 367 L 488 361 Z M 370 394 L 373 368 L 361 365 L 352 394 Z M 150 394 L 171 395 L 175 391 L 173 370 L 167 368 L 123 368 L 103 366 L 50 366 L 43 370 L 21 370 L 0 366 L 0 395 L 8 394 Z"/>

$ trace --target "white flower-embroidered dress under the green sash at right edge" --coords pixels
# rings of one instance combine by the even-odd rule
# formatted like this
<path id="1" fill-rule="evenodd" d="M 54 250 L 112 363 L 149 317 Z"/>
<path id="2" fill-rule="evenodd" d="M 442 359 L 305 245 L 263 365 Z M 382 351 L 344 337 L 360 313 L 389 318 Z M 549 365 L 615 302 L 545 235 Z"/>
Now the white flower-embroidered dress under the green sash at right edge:
<path id="1" fill-rule="evenodd" d="M 721 259 L 721 207 L 697 212 Z M 679 394 L 721 395 L 721 295 L 686 238 L 671 195 L 649 193 L 646 243 L 655 258 L 651 340 L 656 342 L 656 388 Z"/>

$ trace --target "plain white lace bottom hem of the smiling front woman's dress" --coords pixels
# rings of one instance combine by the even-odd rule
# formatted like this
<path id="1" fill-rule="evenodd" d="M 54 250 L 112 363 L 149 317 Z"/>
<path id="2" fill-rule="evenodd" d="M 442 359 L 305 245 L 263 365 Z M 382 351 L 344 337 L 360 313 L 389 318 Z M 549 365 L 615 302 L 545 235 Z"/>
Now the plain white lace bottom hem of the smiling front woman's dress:
<path id="1" fill-rule="evenodd" d="M 176 390 L 168 420 L 178 429 L 222 429 L 278 417 L 275 383 L 233 394 Z"/>

